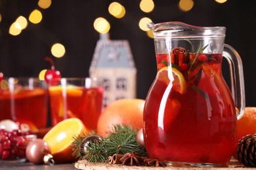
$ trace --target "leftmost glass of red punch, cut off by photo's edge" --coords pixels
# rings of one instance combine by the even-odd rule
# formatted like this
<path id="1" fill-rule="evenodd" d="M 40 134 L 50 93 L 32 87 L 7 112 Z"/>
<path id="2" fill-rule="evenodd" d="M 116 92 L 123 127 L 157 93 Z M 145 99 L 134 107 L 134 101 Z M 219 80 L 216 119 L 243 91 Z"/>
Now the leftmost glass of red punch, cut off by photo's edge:
<path id="1" fill-rule="evenodd" d="M 28 124 L 32 130 L 47 127 L 48 92 L 36 78 L 9 78 L 1 81 L 0 120 Z"/>

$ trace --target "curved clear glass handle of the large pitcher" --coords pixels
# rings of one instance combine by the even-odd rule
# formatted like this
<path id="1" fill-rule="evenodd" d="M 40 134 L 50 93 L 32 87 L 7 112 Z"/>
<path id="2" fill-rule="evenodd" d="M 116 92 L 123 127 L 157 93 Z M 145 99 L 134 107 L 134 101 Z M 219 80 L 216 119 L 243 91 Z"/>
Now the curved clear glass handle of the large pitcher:
<path id="1" fill-rule="evenodd" d="M 238 52 L 230 45 L 224 44 L 223 56 L 228 60 L 230 69 L 231 92 L 238 112 L 238 120 L 244 115 L 245 109 L 245 90 L 244 72 L 242 59 Z"/>

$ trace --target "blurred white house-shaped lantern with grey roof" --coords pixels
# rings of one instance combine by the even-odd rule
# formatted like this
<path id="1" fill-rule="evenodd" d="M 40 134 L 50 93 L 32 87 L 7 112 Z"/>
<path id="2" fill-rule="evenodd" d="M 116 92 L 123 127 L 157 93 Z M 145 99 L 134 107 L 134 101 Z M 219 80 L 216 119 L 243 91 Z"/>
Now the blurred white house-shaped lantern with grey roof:
<path id="1" fill-rule="evenodd" d="M 104 86 L 104 107 L 116 99 L 136 97 L 137 69 L 126 40 L 98 40 L 89 75 Z"/>

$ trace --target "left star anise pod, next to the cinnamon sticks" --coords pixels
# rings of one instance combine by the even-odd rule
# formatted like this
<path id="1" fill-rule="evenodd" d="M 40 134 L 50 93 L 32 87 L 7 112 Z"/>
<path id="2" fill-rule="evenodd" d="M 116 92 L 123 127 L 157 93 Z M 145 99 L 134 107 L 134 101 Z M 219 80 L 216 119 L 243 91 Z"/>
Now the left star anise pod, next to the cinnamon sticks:
<path id="1" fill-rule="evenodd" d="M 137 152 L 126 153 L 120 159 L 120 161 L 123 162 L 121 165 L 137 165 L 137 166 L 139 166 L 140 163 L 143 163 L 143 160 L 144 159 L 141 157 L 141 154 Z"/>

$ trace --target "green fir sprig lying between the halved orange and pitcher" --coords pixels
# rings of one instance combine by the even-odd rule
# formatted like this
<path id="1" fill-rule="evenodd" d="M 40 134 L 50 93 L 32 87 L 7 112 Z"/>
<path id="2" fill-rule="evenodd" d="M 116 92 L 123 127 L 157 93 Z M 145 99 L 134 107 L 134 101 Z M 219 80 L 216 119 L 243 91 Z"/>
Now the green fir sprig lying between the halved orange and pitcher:
<path id="1" fill-rule="evenodd" d="M 90 134 L 74 137 L 72 148 L 74 150 L 73 156 L 76 158 L 87 159 L 89 162 L 104 162 L 108 160 L 108 156 L 113 154 L 126 154 L 131 152 L 138 152 L 139 154 L 146 156 L 146 149 L 137 143 L 137 129 L 128 125 L 116 125 L 114 131 L 108 133 L 108 137 L 102 137 L 102 140 L 98 142 L 89 141 L 85 155 L 80 154 L 80 144 Z"/>

